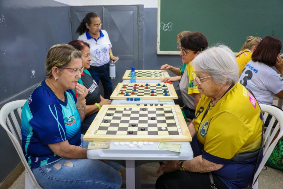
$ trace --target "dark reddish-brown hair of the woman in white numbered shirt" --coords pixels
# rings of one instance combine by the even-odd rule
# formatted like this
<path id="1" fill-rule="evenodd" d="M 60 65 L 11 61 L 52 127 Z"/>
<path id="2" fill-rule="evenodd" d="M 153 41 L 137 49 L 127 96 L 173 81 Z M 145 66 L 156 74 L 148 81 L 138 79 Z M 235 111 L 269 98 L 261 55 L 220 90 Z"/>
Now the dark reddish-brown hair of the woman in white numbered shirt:
<path id="1" fill-rule="evenodd" d="M 262 62 L 267 66 L 274 66 L 281 48 L 282 43 L 280 39 L 274 35 L 266 36 L 253 51 L 252 59 L 254 62 Z"/>

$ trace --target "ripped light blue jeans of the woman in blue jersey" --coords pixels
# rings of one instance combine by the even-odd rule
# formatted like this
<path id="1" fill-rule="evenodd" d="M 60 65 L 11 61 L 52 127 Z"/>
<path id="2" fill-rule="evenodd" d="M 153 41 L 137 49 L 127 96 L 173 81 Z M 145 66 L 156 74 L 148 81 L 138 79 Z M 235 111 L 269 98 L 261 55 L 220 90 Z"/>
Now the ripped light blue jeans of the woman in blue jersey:
<path id="1" fill-rule="evenodd" d="M 82 135 L 83 136 L 83 135 Z M 88 141 L 82 141 L 87 148 Z M 43 188 L 95 188 L 118 189 L 122 184 L 121 165 L 97 159 L 69 159 L 31 169 Z"/>

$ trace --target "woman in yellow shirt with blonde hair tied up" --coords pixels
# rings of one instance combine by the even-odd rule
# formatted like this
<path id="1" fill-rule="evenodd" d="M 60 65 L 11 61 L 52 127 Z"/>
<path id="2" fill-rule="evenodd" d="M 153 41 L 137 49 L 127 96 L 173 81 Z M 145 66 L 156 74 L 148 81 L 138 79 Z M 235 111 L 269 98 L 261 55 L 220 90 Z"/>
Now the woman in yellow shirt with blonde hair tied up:
<path id="1" fill-rule="evenodd" d="M 247 37 L 247 41 L 242 46 L 241 51 L 236 55 L 236 61 L 239 67 L 239 76 L 241 75 L 243 68 L 252 59 L 253 51 L 259 42 L 261 42 L 261 38 L 259 37 Z"/>

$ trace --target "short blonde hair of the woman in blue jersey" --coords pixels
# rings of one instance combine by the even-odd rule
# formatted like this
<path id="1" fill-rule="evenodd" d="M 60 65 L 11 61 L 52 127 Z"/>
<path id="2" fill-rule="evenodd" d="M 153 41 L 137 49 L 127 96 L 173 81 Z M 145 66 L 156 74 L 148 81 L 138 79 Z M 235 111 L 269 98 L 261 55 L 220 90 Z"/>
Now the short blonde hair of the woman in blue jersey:
<path id="1" fill-rule="evenodd" d="M 75 49 L 73 46 L 68 44 L 58 44 L 51 46 L 51 48 L 48 50 L 45 61 L 46 77 L 52 77 L 51 70 L 54 66 L 65 66 L 75 58 L 82 58 L 82 53 L 81 51 Z"/>

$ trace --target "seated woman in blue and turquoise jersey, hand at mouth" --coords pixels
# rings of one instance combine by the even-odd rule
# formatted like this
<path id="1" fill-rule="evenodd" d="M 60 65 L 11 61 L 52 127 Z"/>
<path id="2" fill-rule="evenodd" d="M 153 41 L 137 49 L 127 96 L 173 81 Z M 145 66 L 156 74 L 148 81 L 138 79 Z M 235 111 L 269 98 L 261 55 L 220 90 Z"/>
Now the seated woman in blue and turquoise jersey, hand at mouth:
<path id="1" fill-rule="evenodd" d="M 80 127 L 88 89 L 78 83 L 81 56 L 67 44 L 48 51 L 47 78 L 22 109 L 23 152 L 43 188 L 120 188 L 119 164 L 86 158 L 88 142 L 82 141 Z"/>

